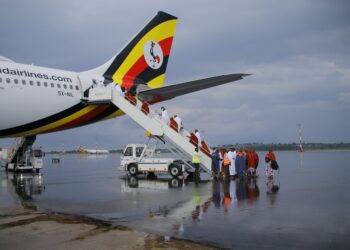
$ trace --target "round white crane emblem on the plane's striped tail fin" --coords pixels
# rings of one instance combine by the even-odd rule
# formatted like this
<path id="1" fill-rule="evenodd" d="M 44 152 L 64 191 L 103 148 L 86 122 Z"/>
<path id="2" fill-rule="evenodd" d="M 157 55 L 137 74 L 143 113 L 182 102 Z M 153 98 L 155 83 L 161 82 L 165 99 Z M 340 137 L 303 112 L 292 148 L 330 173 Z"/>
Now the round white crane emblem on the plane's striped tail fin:
<path id="1" fill-rule="evenodd" d="M 145 60 L 152 69 L 159 69 L 163 64 L 163 51 L 159 43 L 149 40 L 143 48 Z"/>

